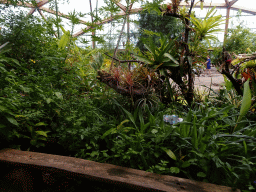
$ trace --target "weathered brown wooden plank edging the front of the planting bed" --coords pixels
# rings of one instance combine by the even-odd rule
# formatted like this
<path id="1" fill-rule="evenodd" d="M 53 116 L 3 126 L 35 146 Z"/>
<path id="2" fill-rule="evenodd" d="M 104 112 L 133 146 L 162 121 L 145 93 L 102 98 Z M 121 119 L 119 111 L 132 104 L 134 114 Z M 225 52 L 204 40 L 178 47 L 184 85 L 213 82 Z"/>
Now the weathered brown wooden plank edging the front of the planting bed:
<path id="1" fill-rule="evenodd" d="M 26 164 L 44 169 L 57 168 L 84 175 L 94 180 L 105 180 L 108 183 L 123 183 L 124 186 L 139 188 L 143 191 L 179 191 L 179 192 L 231 192 L 230 187 L 197 182 L 166 175 L 158 175 L 141 170 L 98 163 L 84 159 L 50 155 L 36 152 L 3 149 L 0 151 L 0 162 Z M 240 190 L 236 190 L 239 192 Z"/>

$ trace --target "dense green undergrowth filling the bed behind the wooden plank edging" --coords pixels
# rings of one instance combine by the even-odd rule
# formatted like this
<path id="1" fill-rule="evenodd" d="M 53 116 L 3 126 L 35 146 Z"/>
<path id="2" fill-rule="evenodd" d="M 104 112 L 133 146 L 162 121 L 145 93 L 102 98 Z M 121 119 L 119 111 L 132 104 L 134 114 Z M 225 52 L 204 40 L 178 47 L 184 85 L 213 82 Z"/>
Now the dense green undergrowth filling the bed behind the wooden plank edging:
<path id="1" fill-rule="evenodd" d="M 190 107 L 179 101 L 134 107 L 96 80 L 92 50 L 60 49 L 47 26 L 13 19 L 11 33 L 0 37 L 1 45 L 9 42 L 0 50 L 1 148 L 255 190 L 255 112 L 238 122 L 242 97 L 232 89 L 197 95 Z M 184 121 L 170 125 L 165 114 Z"/>

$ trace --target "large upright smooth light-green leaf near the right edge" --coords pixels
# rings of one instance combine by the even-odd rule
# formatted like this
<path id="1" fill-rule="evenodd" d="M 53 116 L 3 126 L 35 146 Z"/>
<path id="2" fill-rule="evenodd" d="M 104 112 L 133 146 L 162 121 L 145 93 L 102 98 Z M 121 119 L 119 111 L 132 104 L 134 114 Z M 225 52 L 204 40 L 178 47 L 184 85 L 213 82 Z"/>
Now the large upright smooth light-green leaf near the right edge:
<path id="1" fill-rule="evenodd" d="M 252 95 L 249 85 L 249 79 L 244 83 L 244 94 L 242 99 L 242 105 L 240 109 L 240 114 L 237 122 L 241 121 L 242 117 L 249 111 L 252 104 Z"/>

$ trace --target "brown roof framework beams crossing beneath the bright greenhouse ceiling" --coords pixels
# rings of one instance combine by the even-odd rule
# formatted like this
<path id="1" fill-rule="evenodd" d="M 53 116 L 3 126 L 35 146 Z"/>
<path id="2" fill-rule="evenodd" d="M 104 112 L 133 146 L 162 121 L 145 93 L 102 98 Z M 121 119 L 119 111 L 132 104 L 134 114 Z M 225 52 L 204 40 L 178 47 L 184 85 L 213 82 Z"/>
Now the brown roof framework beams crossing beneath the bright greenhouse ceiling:
<path id="1" fill-rule="evenodd" d="M 232 1 L 229 1 L 229 0 L 223 0 L 223 3 L 203 3 L 203 6 L 204 8 L 211 8 L 211 7 L 216 7 L 216 8 L 221 8 L 221 9 L 226 9 L 226 24 L 225 24 L 225 32 L 224 34 L 227 34 L 227 31 L 228 31 L 228 26 L 229 26 L 229 16 L 230 16 L 230 10 L 241 10 L 242 12 L 244 13 L 249 13 L 249 14 L 252 14 L 252 15 L 256 15 L 256 10 L 253 10 L 253 9 L 249 9 L 249 8 L 244 8 L 244 7 L 240 7 L 240 6 L 236 6 L 235 3 L 237 2 L 238 0 L 232 0 Z M 9 3 L 8 0 L 0 0 L 0 4 L 7 4 Z M 29 13 L 30 15 L 32 15 L 35 11 L 38 11 L 39 14 L 45 18 L 44 14 L 43 14 L 43 11 L 45 12 L 48 12 L 48 13 L 51 13 L 51 14 L 55 14 L 56 15 L 56 11 L 54 10 L 51 10 L 49 8 L 46 8 L 44 7 L 45 4 L 49 3 L 49 0 L 36 0 L 36 5 L 33 5 L 31 3 L 22 3 L 20 1 L 18 1 L 17 5 L 18 6 L 23 6 L 23 7 L 28 7 L 28 8 L 31 8 Z M 9 3 L 10 4 L 10 3 Z M 135 8 L 133 9 L 132 6 L 133 6 L 133 3 L 131 3 L 129 6 L 125 6 L 119 2 L 115 2 L 115 4 L 121 9 L 121 11 L 115 15 L 115 16 L 112 16 L 112 17 L 109 17 L 109 18 L 106 18 L 100 22 L 96 22 L 95 24 L 96 25 L 103 25 L 105 23 L 108 23 L 110 21 L 113 21 L 115 20 L 116 16 L 125 16 L 127 15 L 130 15 L 130 14 L 135 14 L 135 13 L 138 13 L 140 11 L 142 11 L 142 8 Z M 180 3 L 180 6 L 186 6 L 186 7 L 190 7 L 190 3 L 185 3 L 185 2 L 181 2 Z M 128 7 L 128 10 L 126 10 L 126 7 Z M 200 7 L 199 4 L 196 4 L 194 7 Z M 64 14 L 64 13 L 61 13 L 61 12 L 57 12 L 58 16 L 60 17 L 64 17 L 66 19 L 69 19 L 69 16 Z M 92 18 L 92 21 L 93 21 L 93 18 Z M 89 22 L 87 21 L 84 21 L 84 20 L 79 20 L 79 22 L 81 24 L 84 24 L 84 25 L 87 25 L 87 27 L 85 27 L 83 30 L 75 33 L 73 35 L 73 37 L 78 37 L 78 36 L 81 36 L 85 33 L 85 31 L 91 29 L 92 27 L 88 25 Z M 129 25 L 127 23 L 127 25 Z M 127 28 L 129 28 L 127 26 Z M 95 44 L 93 43 L 93 47 L 95 47 Z"/>

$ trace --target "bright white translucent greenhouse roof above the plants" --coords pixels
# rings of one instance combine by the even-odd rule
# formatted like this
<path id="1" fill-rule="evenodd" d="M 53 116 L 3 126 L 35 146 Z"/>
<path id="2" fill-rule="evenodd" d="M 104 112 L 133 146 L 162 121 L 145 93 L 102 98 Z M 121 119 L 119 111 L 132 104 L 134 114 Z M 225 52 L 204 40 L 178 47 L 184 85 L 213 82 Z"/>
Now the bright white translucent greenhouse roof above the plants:
<path id="1" fill-rule="evenodd" d="M 102 30 L 97 30 L 97 36 L 107 37 L 107 36 L 116 36 L 118 31 L 122 28 L 122 22 L 117 22 L 114 19 L 114 15 L 111 15 L 110 12 L 103 12 L 103 7 L 107 7 L 106 3 L 110 2 L 111 0 L 36 0 L 35 5 L 29 3 L 31 1 L 26 1 L 21 5 L 22 8 L 18 7 L 15 8 L 19 10 L 25 11 L 27 14 L 33 14 L 35 16 L 42 16 L 44 18 L 54 17 L 56 16 L 56 6 L 54 3 L 57 2 L 57 11 L 58 15 L 62 18 L 62 25 L 66 30 L 71 30 L 71 22 L 68 19 L 68 15 L 71 14 L 74 10 L 78 13 L 82 13 L 85 15 L 80 15 L 78 18 L 80 19 L 80 23 L 75 25 L 73 30 L 73 36 L 75 37 L 83 37 L 88 41 L 91 40 L 92 32 L 86 32 L 85 29 L 90 29 L 91 26 L 88 25 L 88 22 L 95 22 L 97 25 L 103 25 Z M 125 15 L 126 12 L 126 1 L 127 0 L 115 0 L 115 6 L 118 8 L 116 15 Z M 148 2 L 152 2 L 153 0 L 147 0 Z M 0 0 L 2 4 L 6 3 L 6 0 Z M 138 20 L 138 11 L 141 10 L 141 6 L 144 4 L 145 0 L 138 1 L 133 3 L 130 6 L 130 21 L 131 20 Z M 190 1 L 188 1 L 190 2 Z M 163 3 L 171 3 L 171 0 L 165 0 Z M 189 6 L 183 0 L 181 2 L 181 6 Z M 200 9 L 200 4 L 196 4 L 195 8 L 193 9 L 198 17 L 203 18 L 207 10 L 210 7 L 216 6 L 217 14 L 221 14 L 223 17 L 229 17 L 229 25 L 221 25 L 220 28 L 225 31 L 228 27 L 234 27 L 236 25 L 241 24 L 242 21 L 243 25 L 250 28 L 252 31 L 256 30 L 256 23 L 255 23 L 255 15 L 256 15 L 256 1 L 254 0 L 204 0 L 204 9 Z M 241 10 L 241 11 L 239 11 Z M 90 12 L 94 13 L 94 17 L 90 16 Z M 240 17 L 236 17 L 240 14 Z M 99 17 L 99 19 L 95 20 L 95 16 Z M 129 33 L 137 33 L 138 27 L 136 24 L 132 22 L 128 22 L 125 26 L 125 31 Z M 220 41 L 223 41 L 224 33 L 216 34 Z M 135 40 L 134 40 L 135 41 Z M 133 42 L 133 39 L 131 39 Z M 134 42 L 135 43 L 135 42 Z"/>

